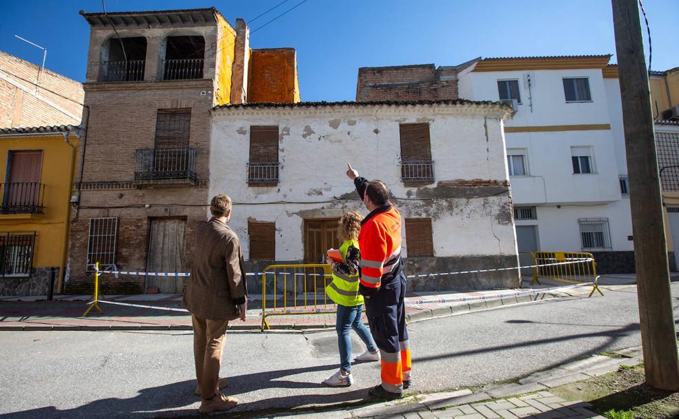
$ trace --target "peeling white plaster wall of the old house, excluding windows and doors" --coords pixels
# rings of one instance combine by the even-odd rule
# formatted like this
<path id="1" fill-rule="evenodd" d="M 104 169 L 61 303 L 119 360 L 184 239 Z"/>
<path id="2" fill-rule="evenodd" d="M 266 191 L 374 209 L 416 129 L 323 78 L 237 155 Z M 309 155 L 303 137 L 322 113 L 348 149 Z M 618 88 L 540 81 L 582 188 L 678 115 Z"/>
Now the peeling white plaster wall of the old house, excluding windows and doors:
<path id="1" fill-rule="evenodd" d="M 304 219 L 338 218 L 367 210 L 346 163 L 360 176 L 384 181 L 402 217 L 432 218 L 434 256 L 516 258 L 509 215 L 508 173 L 502 125 L 511 112 L 488 103 L 373 105 L 369 103 L 226 106 L 213 110 L 210 196 L 228 194 L 234 203 L 230 226 L 249 258 L 248 219 L 275 222 L 276 260 L 304 258 Z M 429 123 L 435 181 L 406 187 L 401 181 L 400 123 Z M 279 183 L 248 185 L 246 163 L 250 126 L 278 125 Z M 493 187 L 468 187 L 475 196 L 458 197 L 460 187 L 441 181 L 483 179 Z M 505 183 L 505 186 L 502 186 Z M 498 190 L 494 186 L 493 191 Z M 464 188 L 463 188 L 464 189 Z M 442 194 L 451 192 L 453 197 Z M 450 194 L 449 194 L 450 195 Z M 504 217 L 504 218 L 503 218 Z M 408 257 L 405 227 L 403 252 Z"/>

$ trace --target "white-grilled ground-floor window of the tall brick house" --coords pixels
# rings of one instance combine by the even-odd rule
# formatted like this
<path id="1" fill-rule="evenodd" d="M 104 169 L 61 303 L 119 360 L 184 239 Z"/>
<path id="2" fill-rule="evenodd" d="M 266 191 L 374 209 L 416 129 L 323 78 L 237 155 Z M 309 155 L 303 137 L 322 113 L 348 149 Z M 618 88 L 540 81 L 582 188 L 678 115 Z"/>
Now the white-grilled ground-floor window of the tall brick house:
<path id="1" fill-rule="evenodd" d="M 87 270 L 94 271 L 99 262 L 101 269 L 115 265 L 118 244 L 118 217 L 90 218 L 87 243 Z"/>

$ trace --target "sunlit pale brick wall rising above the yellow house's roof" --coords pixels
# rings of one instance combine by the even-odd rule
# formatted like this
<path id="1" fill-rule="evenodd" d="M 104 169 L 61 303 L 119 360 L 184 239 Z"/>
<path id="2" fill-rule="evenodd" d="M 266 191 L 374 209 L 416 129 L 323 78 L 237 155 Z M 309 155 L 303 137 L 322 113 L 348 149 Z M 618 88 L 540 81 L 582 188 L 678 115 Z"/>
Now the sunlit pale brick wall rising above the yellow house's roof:
<path id="1" fill-rule="evenodd" d="M 78 125 L 80 123 L 82 105 L 79 103 L 83 103 L 84 95 L 81 83 L 45 70 L 41 72 L 40 88 L 36 96 L 35 88 L 39 72 L 38 65 L 0 51 L 0 77 L 2 78 L 0 79 L 0 127 Z M 28 88 L 28 92 L 17 85 Z M 48 102 L 54 103 L 72 116 Z"/>

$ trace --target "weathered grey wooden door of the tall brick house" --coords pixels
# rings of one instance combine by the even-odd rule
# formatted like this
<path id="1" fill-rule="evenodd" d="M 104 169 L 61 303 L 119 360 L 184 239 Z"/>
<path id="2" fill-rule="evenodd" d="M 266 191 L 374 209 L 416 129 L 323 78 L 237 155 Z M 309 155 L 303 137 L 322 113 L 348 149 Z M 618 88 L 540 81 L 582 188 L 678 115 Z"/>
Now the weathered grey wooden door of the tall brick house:
<path id="1" fill-rule="evenodd" d="M 186 220 L 152 218 L 148 239 L 147 272 L 184 272 Z M 147 276 L 147 287 L 164 294 L 184 292 L 183 276 Z"/>

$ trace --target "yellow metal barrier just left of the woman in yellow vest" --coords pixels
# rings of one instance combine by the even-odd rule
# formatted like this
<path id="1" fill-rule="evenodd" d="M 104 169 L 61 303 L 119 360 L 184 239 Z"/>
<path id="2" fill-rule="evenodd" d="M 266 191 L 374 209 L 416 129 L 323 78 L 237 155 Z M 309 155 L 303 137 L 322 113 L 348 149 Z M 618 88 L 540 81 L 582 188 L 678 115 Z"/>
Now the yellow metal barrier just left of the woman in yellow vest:
<path id="1" fill-rule="evenodd" d="M 335 303 L 325 292 L 326 285 L 332 280 L 330 265 L 323 263 L 267 266 L 262 272 L 262 325 L 260 329 L 262 331 L 270 329 L 266 322 L 269 316 L 335 314 L 337 312 Z M 267 295 L 266 292 L 267 282 L 271 283 L 271 295 Z M 270 299 L 269 303 L 267 303 L 267 298 Z M 279 298 L 282 298 L 282 301 L 279 301 Z"/>

